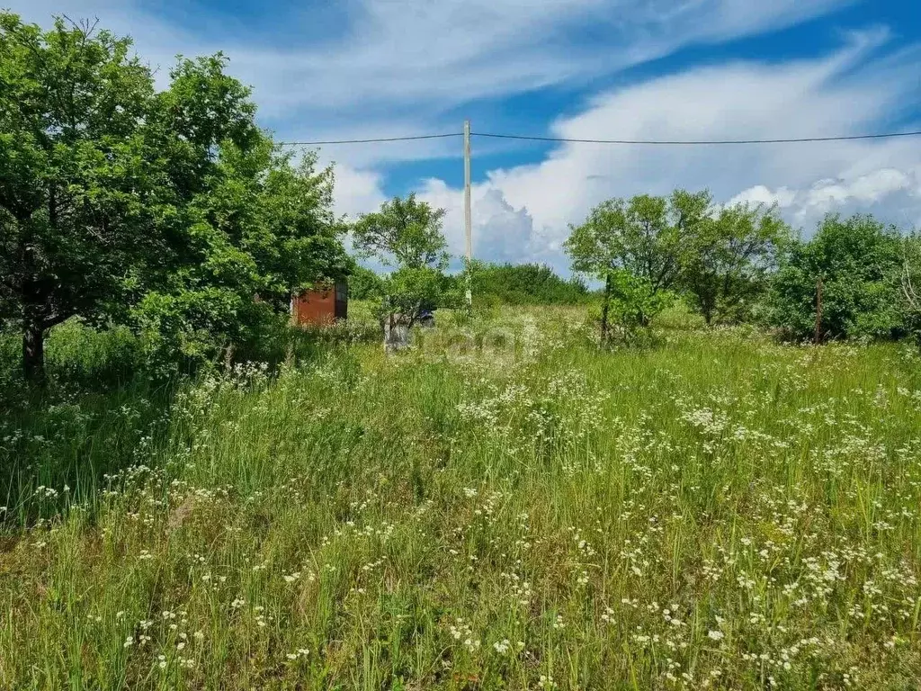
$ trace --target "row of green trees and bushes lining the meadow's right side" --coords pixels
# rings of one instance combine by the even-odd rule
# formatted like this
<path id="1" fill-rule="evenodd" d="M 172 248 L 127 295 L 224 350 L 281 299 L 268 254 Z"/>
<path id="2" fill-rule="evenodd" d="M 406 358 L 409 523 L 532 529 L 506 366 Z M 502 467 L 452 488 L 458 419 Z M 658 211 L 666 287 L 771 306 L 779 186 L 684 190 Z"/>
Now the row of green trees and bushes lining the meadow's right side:
<path id="1" fill-rule="evenodd" d="M 789 340 L 914 334 L 921 345 L 921 235 L 869 215 L 830 214 L 805 240 L 776 206 L 675 190 L 602 202 L 564 247 L 577 274 L 604 282 L 602 340 L 682 299 L 707 324 L 752 322 Z"/>

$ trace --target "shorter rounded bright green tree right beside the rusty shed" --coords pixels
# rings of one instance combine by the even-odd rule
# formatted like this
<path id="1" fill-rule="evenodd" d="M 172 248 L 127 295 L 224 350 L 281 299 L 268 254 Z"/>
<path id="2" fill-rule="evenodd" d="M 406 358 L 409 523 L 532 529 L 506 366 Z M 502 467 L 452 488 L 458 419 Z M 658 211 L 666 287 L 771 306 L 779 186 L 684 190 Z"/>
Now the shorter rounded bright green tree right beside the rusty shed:
<path id="1" fill-rule="evenodd" d="M 202 221 L 186 247 L 191 261 L 132 312 L 149 334 L 151 364 L 192 366 L 227 349 L 255 356 L 286 322 L 292 290 L 350 270 L 332 218 L 332 171 L 315 172 L 313 155 L 297 168 L 290 160 L 263 142 L 216 163 L 211 186 L 192 200 Z"/>

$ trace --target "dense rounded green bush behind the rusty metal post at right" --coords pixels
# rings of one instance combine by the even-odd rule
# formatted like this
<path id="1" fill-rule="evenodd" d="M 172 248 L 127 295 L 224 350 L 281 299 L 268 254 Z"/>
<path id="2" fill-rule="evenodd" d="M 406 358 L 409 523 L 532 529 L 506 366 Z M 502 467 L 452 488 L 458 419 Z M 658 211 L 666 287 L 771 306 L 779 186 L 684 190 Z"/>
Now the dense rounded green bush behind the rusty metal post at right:
<path id="1" fill-rule="evenodd" d="M 902 267 L 896 229 L 868 216 L 826 217 L 811 240 L 792 245 L 772 283 L 768 319 L 791 338 L 809 338 L 821 279 L 823 337 L 897 336 Z"/>

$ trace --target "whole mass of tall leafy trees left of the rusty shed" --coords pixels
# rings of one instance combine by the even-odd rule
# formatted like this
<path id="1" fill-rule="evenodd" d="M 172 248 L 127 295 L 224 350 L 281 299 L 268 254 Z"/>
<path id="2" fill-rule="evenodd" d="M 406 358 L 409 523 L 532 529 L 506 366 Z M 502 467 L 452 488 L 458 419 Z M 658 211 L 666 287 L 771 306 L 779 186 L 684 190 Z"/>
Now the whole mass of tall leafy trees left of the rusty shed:
<path id="1" fill-rule="evenodd" d="M 0 319 L 36 379 L 69 317 L 133 324 L 170 369 L 247 349 L 292 290 L 352 265 L 332 169 L 275 150 L 223 55 L 156 92 L 130 45 L 0 15 Z"/>

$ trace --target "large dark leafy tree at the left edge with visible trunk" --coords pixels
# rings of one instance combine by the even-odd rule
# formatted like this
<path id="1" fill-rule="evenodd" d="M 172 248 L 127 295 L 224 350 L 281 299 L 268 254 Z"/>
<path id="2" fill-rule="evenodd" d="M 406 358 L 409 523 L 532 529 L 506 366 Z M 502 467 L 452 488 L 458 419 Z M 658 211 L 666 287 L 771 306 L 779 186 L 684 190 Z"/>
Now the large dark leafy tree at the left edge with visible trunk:
<path id="1" fill-rule="evenodd" d="M 99 316 L 152 249 L 141 130 L 153 81 L 130 47 L 0 12 L 0 309 L 23 334 L 31 380 L 47 330 Z"/>

